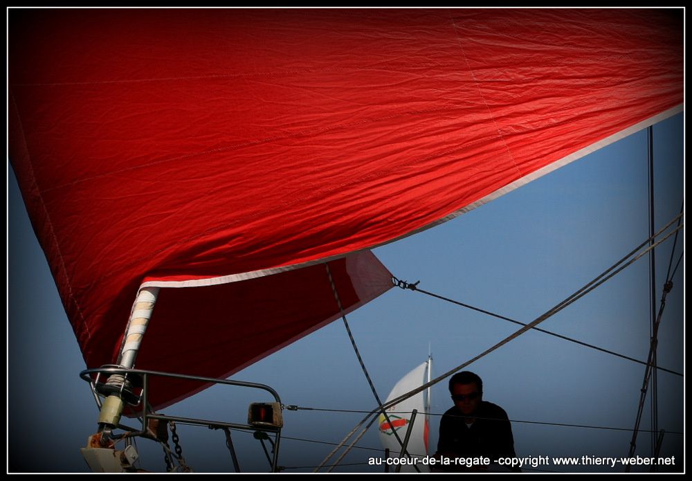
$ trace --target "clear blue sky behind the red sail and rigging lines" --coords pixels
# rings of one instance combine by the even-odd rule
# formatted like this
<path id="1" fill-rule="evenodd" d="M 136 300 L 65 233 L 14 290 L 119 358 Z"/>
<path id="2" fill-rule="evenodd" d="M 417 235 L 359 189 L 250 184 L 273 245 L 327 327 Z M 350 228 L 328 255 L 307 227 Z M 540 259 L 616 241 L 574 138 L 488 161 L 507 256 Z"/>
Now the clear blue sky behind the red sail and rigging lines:
<path id="1" fill-rule="evenodd" d="M 683 114 L 654 127 L 655 221 L 673 219 L 683 199 Z M 397 278 L 441 296 L 529 323 L 595 278 L 648 237 L 646 130 L 581 158 L 556 172 L 453 221 L 374 253 Z M 683 237 L 677 241 L 675 261 Z M 656 249 L 657 298 L 673 237 Z M 659 329 L 658 363 L 683 372 L 684 265 L 673 278 Z M 645 361 L 650 326 L 646 258 L 540 325 Z M 348 316 L 370 376 L 385 399 L 395 383 L 426 360 L 433 376 L 462 364 L 515 332 L 518 326 L 422 293 L 391 289 Z M 176 346 L 172 345 L 171 350 Z M 28 221 L 8 165 L 8 471 L 89 472 L 79 448 L 95 432 L 98 410 L 79 372 L 86 366 L 57 295 L 55 282 Z M 95 366 L 91 366 L 95 367 Z M 644 366 L 540 332 L 527 332 L 468 367 L 484 380 L 484 399 L 509 414 L 518 456 L 622 457 L 629 450 Z M 338 320 L 239 372 L 233 379 L 271 385 L 284 404 L 328 410 L 376 406 Z M 684 379 L 658 374 L 662 456 L 682 471 Z M 211 388 L 163 412 L 244 422 L 257 392 Z M 451 406 L 446 381 L 432 389 L 431 453 L 439 415 Z M 648 402 L 647 402 L 648 406 Z M 361 412 L 284 410 L 280 464 L 286 472 L 312 471 L 363 417 Z M 601 430 L 539 423 L 623 428 Z M 136 426 L 136 421 L 127 424 Z M 641 428 L 648 429 L 644 412 Z M 233 472 L 224 433 L 179 426 L 183 455 L 194 471 Z M 291 439 L 293 438 L 293 439 Z M 260 443 L 234 433 L 243 471 L 266 471 Z M 376 428 L 344 460 L 344 471 L 379 457 Z M 371 448 L 371 449 L 365 449 Z M 142 440 L 143 469 L 165 470 L 163 451 Z M 640 433 L 637 454 L 650 456 L 650 435 Z M 549 471 L 622 472 L 599 466 L 540 466 Z M 671 469 L 671 468 L 669 468 Z M 635 469 L 634 471 L 646 471 Z"/>

